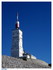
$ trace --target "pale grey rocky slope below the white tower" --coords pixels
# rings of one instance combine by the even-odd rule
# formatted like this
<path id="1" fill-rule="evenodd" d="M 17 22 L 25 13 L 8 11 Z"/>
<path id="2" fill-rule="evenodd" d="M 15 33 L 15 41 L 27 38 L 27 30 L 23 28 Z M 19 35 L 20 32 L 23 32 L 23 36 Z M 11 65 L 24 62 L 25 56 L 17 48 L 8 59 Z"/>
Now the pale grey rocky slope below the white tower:
<path id="1" fill-rule="evenodd" d="M 48 64 L 39 59 L 27 59 L 27 61 L 10 56 L 2 56 L 2 68 L 50 68 Z"/>

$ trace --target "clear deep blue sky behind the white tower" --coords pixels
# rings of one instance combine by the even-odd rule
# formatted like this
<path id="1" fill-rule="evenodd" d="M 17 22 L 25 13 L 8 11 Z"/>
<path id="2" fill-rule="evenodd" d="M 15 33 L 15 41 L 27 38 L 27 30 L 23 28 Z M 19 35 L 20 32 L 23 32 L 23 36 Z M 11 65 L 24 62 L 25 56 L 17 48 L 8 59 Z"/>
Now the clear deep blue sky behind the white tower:
<path id="1" fill-rule="evenodd" d="M 23 31 L 24 50 L 51 63 L 50 2 L 2 3 L 2 54 L 11 55 L 12 30 L 15 29 L 17 12 Z"/>

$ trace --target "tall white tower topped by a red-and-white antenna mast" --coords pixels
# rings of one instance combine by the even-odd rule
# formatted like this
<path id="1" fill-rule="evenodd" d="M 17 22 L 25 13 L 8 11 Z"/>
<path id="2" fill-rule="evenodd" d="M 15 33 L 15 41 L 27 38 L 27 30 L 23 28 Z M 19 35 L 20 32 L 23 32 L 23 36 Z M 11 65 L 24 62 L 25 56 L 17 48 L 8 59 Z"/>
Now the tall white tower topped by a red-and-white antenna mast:
<path id="1" fill-rule="evenodd" d="M 19 29 L 19 21 L 17 14 L 16 29 L 12 31 L 12 48 L 11 56 L 12 57 L 23 57 L 23 33 Z"/>

